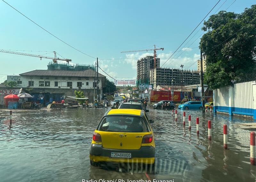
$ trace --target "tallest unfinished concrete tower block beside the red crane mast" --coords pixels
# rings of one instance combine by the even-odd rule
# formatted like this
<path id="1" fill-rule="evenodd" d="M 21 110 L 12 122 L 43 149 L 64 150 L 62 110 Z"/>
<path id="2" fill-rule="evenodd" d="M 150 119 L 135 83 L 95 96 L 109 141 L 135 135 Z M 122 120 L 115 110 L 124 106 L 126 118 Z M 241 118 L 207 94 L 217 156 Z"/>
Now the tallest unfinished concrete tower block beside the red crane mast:
<path id="1" fill-rule="evenodd" d="M 156 68 L 159 67 L 160 58 L 156 58 Z M 147 56 L 137 60 L 137 84 L 149 84 L 151 69 L 154 69 L 154 56 Z"/>

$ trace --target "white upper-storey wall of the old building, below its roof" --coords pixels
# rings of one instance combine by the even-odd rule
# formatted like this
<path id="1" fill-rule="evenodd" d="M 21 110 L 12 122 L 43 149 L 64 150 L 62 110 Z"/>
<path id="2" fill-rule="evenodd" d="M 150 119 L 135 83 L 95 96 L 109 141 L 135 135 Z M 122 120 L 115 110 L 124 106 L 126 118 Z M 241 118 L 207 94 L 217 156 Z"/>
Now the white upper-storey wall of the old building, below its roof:
<path id="1" fill-rule="evenodd" d="M 11 77 L 10 77 L 11 78 Z M 78 78 L 78 77 L 39 77 L 39 76 L 20 76 L 19 84 L 20 87 L 28 87 L 29 81 L 34 81 L 34 88 L 69 88 L 67 82 L 72 82 L 72 88 L 78 88 L 77 82 L 82 82 L 81 89 L 93 89 L 94 78 Z M 99 78 L 100 80 L 100 78 Z M 8 81 L 8 80 L 7 80 Z M 44 81 L 44 86 L 39 86 L 39 81 Z M 50 81 L 50 86 L 45 86 L 45 81 Z M 58 86 L 55 87 L 55 81 L 58 81 Z M 88 85 L 86 85 L 88 82 Z M 64 86 L 65 85 L 65 86 Z M 31 88 L 33 88 L 31 87 Z M 99 88 L 101 89 L 101 82 L 99 83 Z"/>

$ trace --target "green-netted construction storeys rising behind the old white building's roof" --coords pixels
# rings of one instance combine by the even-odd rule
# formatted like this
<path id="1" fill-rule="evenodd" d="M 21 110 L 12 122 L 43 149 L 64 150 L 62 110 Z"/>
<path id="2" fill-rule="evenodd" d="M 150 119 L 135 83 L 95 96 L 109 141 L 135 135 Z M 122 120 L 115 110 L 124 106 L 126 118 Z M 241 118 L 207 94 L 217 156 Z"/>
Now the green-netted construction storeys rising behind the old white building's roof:
<path id="1" fill-rule="evenodd" d="M 95 65 L 90 64 L 68 64 L 49 62 L 47 67 L 48 70 L 84 71 L 90 68 L 95 71 Z"/>

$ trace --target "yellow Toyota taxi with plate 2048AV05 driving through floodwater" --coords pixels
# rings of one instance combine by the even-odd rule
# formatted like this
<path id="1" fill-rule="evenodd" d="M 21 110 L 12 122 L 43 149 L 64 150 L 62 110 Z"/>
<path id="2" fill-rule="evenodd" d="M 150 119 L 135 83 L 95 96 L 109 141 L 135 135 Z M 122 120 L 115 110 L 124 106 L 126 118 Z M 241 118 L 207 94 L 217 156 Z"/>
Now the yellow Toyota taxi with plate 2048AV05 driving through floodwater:
<path id="1" fill-rule="evenodd" d="M 144 110 L 112 109 L 101 118 L 92 136 L 90 163 L 155 163 L 155 142 Z"/>

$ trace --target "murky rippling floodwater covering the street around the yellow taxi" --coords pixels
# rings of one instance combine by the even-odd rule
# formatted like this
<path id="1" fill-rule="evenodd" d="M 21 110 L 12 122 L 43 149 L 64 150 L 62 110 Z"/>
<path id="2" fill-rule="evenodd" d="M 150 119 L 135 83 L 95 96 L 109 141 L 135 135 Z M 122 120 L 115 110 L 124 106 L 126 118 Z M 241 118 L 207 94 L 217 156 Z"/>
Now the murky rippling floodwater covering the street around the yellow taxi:
<path id="1" fill-rule="evenodd" d="M 67 109 L 13 111 L 13 128 L 0 115 L 0 181 L 48 182 L 82 179 L 131 179 L 179 181 L 255 181 L 256 168 L 250 165 L 250 131 L 234 128 L 248 118 L 223 114 L 182 111 L 178 120 L 170 110 L 149 109 L 156 143 L 154 174 L 125 171 L 122 167 L 90 166 L 92 133 L 108 109 Z M 188 130 L 188 114 L 192 129 Z M 6 115 L 7 116 L 7 115 Z M 19 118 L 18 118 L 19 117 Z M 196 117 L 200 134 L 196 134 Z M 15 120 L 15 118 L 18 118 Z M 207 121 L 212 120 L 212 141 Z M 223 124 L 228 125 L 228 150 L 223 149 Z M 126 182 L 126 180 L 125 180 Z"/>

